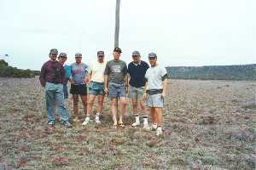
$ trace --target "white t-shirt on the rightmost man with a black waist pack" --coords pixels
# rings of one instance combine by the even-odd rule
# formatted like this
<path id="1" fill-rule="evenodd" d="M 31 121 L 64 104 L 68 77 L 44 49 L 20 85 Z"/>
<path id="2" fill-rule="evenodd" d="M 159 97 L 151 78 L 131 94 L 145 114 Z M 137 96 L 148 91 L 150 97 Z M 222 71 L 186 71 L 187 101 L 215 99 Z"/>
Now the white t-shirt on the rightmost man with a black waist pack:
<path id="1" fill-rule="evenodd" d="M 145 78 L 148 80 L 147 90 L 163 89 L 162 78 L 167 74 L 166 68 L 160 65 L 148 68 Z"/>

